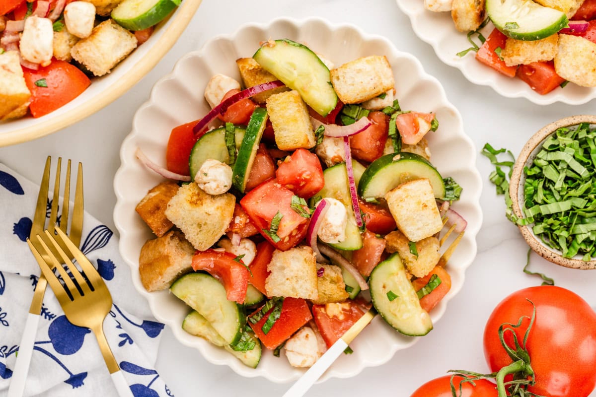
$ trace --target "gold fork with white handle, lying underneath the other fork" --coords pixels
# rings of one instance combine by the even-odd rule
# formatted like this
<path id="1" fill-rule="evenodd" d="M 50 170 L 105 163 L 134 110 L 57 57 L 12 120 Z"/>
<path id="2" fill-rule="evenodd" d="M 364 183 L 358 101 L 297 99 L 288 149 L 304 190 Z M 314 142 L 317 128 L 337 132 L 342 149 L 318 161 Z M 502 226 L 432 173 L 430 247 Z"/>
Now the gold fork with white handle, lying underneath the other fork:
<path id="1" fill-rule="evenodd" d="M 35 207 L 35 216 L 33 217 L 33 224 L 29 237 L 43 233 L 45 229 L 45 218 L 47 211 L 48 190 L 49 190 L 49 168 L 51 165 L 51 157 L 45 161 L 44 176 L 42 177 L 41 185 L 39 186 L 39 194 L 37 205 Z M 56 220 L 58 217 L 58 201 L 60 196 L 60 170 L 62 159 L 58 158 L 58 165 L 56 168 L 56 176 L 54 182 L 54 193 L 52 196 L 52 207 L 49 215 L 48 229 L 54 233 Z M 66 180 L 64 182 L 64 194 L 62 201 L 62 214 L 60 215 L 60 229 L 67 232 L 69 224 L 69 206 L 70 206 L 70 160 L 66 170 Z M 75 206 L 71 217 L 69 236 L 76 245 L 80 243 L 80 236 L 83 229 L 83 166 L 79 162 L 75 190 Z M 34 239 L 33 245 L 38 249 L 41 246 L 37 240 Z M 43 260 L 42 260 L 43 261 Z M 44 301 L 44 293 L 46 288 L 46 280 L 43 274 L 39 276 L 38 283 L 33 292 L 33 299 L 27 321 L 21 336 L 21 343 L 18 347 L 18 356 L 13 376 L 8 387 L 8 397 L 21 397 L 25 387 L 27 372 L 29 371 L 29 364 L 31 362 L 31 355 L 33 353 L 33 343 L 35 342 L 35 333 L 38 328 L 39 315 L 41 314 L 42 303 Z"/>

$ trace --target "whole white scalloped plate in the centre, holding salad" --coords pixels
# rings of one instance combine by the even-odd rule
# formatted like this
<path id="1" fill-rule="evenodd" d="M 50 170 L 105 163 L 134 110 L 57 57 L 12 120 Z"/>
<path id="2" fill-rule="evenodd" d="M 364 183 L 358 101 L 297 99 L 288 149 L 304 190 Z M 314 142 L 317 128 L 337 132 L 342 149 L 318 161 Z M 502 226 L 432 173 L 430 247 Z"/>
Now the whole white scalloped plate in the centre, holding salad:
<path id="1" fill-rule="evenodd" d="M 135 149 L 139 146 L 148 157 L 162 160 L 170 130 L 200 118 L 209 110 L 203 91 L 210 77 L 224 73 L 240 80 L 235 60 L 250 57 L 259 47 L 259 42 L 270 37 L 286 37 L 306 43 L 337 65 L 365 55 L 386 55 L 393 67 L 397 97 L 402 108 L 436 112 L 440 127 L 429 138 L 432 160 L 443 175 L 454 177 L 463 187 L 462 198 L 454 208 L 468 220 L 468 227 L 449 264 L 451 291 L 433 310 L 433 321 L 439 320 L 449 299 L 461 289 L 464 270 L 476 255 L 476 234 L 482 223 L 479 206 L 482 182 L 474 165 L 476 149 L 464 134 L 460 114 L 445 98 L 440 83 L 424 73 L 420 62 L 412 55 L 399 52 L 382 37 L 365 35 L 352 26 L 333 26 L 320 19 L 278 19 L 264 26 L 247 24 L 233 35 L 215 37 L 200 51 L 185 55 L 172 73 L 156 83 L 149 101 L 136 112 L 132 132 L 122 144 L 122 165 L 114 180 L 117 196 L 114 222 L 120 232 L 120 252 L 131 267 L 134 286 L 147 298 L 155 317 L 170 326 L 181 343 L 197 349 L 207 361 L 228 365 L 242 376 L 262 376 L 273 382 L 290 382 L 300 377 L 303 370 L 290 367 L 285 358 L 275 358 L 271 352 L 264 352 L 259 366 L 248 368 L 223 349 L 185 333 L 181 324 L 188 307 L 167 290 L 148 293 L 141 285 L 138 273 L 141 246 L 154 236 L 136 214 L 135 205 L 161 178 L 136 160 Z M 375 318 L 352 343 L 354 353 L 342 355 L 322 379 L 355 376 L 365 367 L 383 364 L 396 351 L 412 346 L 417 340 L 399 334 L 381 318 Z"/>

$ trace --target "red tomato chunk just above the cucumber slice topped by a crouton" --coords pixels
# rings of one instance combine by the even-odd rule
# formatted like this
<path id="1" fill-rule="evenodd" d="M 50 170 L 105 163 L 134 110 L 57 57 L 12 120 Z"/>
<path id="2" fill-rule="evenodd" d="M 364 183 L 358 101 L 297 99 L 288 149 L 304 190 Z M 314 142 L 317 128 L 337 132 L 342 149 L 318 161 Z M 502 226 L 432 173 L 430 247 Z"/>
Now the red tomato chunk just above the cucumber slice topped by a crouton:
<path id="1" fill-rule="evenodd" d="M 383 112 L 368 115 L 371 126 L 350 137 L 352 156 L 357 160 L 373 162 L 383 155 L 389 131 L 389 116 Z"/>

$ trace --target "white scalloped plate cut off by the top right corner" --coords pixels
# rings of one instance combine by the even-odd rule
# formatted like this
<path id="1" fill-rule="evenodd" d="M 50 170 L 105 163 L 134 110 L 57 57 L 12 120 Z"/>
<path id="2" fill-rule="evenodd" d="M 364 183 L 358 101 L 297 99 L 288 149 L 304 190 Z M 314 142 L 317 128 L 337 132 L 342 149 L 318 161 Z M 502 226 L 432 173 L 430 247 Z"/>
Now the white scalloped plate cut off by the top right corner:
<path id="1" fill-rule="evenodd" d="M 569 83 L 563 89 L 557 88 L 547 95 L 540 95 L 517 77 L 504 76 L 498 71 L 476 61 L 473 51 L 464 57 L 456 54 L 470 48 L 467 35 L 455 29 L 451 12 L 433 12 L 424 8 L 423 0 L 396 0 L 399 8 L 408 15 L 414 33 L 420 39 L 433 46 L 439 59 L 446 64 L 457 67 L 470 82 L 490 86 L 502 96 L 508 98 L 526 98 L 538 105 L 550 105 L 563 102 L 570 105 L 585 104 L 596 98 L 596 88 L 580 87 Z M 492 32 L 489 23 L 482 33 L 485 37 Z M 474 35 L 476 36 L 476 35 Z M 479 40 L 476 39 L 476 43 Z"/>

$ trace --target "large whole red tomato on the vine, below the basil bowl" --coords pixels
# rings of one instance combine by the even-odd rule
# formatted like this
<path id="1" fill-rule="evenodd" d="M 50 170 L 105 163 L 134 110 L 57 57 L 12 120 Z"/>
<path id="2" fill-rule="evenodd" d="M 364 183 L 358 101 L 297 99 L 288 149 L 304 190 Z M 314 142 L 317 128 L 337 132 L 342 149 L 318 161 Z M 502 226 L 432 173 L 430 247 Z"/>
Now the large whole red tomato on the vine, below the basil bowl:
<path id="1" fill-rule="evenodd" d="M 519 343 L 532 316 L 536 318 L 527 338 L 526 348 L 535 373 L 535 385 L 528 391 L 549 397 L 586 397 L 596 385 L 596 312 L 570 290 L 538 286 L 507 296 L 492 312 L 484 333 L 485 358 L 492 371 L 510 365 L 512 360 L 498 336 L 501 324 L 522 326 L 511 329 Z M 505 343 L 515 349 L 513 332 L 505 332 Z M 507 382 L 507 378 L 505 378 Z"/>

